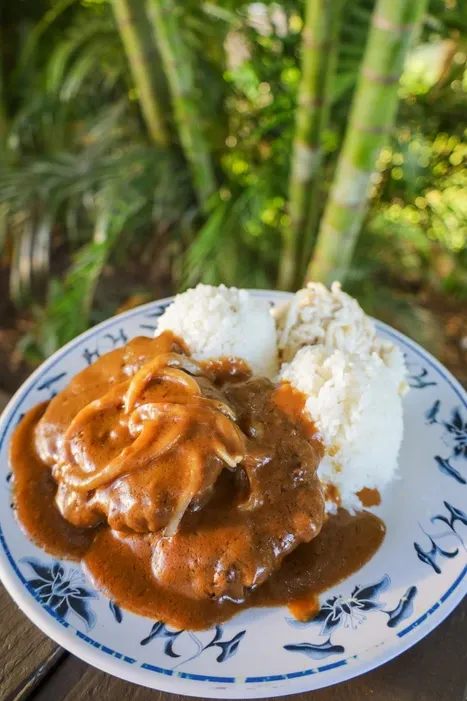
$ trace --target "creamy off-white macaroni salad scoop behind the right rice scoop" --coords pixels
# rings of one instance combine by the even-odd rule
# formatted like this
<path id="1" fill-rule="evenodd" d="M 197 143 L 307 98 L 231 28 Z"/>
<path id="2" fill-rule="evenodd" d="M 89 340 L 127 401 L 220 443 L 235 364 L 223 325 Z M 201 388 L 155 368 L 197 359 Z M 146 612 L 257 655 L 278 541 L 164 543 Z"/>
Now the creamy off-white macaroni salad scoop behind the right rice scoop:
<path id="1" fill-rule="evenodd" d="M 279 354 L 290 362 L 304 346 L 321 344 L 329 352 L 369 353 L 375 339 L 374 324 L 338 282 L 331 289 L 310 282 L 291 302 L 275 310 Z"/>

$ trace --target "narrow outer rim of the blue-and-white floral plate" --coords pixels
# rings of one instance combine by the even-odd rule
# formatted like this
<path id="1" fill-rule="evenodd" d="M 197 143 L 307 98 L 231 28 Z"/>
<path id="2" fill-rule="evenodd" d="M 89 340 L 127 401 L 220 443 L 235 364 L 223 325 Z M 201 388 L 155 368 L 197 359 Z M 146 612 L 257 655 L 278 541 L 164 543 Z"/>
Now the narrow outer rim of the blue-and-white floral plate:
<path id="1" fill-rule="evenodd" d="M 250 290 L 250 292 L 252 292 L 256 297 L 267 298 L 269 300 L 276 299 L 278 302 L 281 300 L 286 301 L 293 296 L 292 293 L 275 290 Z M 63 347 L 59 348 L 43 363 L 41 363 L 41 365 L 34 370 L 34 372 L 15 392 L 2 412 L 2 416 L 0 418 L 0 446 L 13 418 L 16 405 L 25 398 L 27 393 L 30 391 L 31 386 L 36 382 L 36 379 L 44 372 L 50 370 L 66 352 L 71 351 L 82 341 L 99 334 L 107 326 L 114 325 L 115 322 L 120 319 L 126 320 L 133 316 L 144 314 L 144 312 L 151 309 L 151 307 L 168 304 L 172 300 L 173 296 L 153 300 L 144 305 L 135 307 L 134 309 L 130 309 L 109 317 L 108 319 L 105 319 L 99 324 L 93 326 L 91 329 L 83 332 L 79 336 L 76 336 Z M 443 380 L 450 385 L 451 389 L 455 391 L 456 395 L 464 403 L 464 405 L 467 406 L 466 390 L 462 387 L 454 375 L 431 353 L 426 351 L 417 342 L 408 338 L 402 332 L 393 329 L 388 324 L 376 319 L 373 319 L 373 321 L 381 330 L 385 331 L 396 339 L 401 340 L 419 357 L 423 358 L 424 361 L 427 361 L 441 375 Z M 80 639 L 75 634 L 70 635 L 70 632 L 67 632 L 67 626 L 62 626 L 59 621 L 53 619 L 46 611 L 43 610 L 43 608 L 38 608 L 33 604 L 35 601 L 34 597 L 32 597 L 31 592 L 29 592 L 27 587 L 23 586 L 21 576 L 18 574 L 19 570 L 18 572 L 15 571 L 16 565 L 12 555 L 10 554 L 8 545 L 6 544 L 1 524 L 0 542 L 3 550 L 3 552 L 0 552 L 0 579 L 10 596 L 23 611 L 23 613 L 25 613 L 25 615 L 27 615 L 28 618 L 46 635 L 65 649 L 68 649 L 70 652 L 83 659 L 88 664 L 112 674 L 113 676 L 136 684 L 141 684 L 149 688 L 159 689 L 170 693 L 183 693 L 187 696 L 203 695 L 207 698 L 262 698 L 267 696 L 281 696 L 289 693 L 299 693 L 348 681 L 356 676 L 365 674 L 372 669 L 376 669 L 382 664 L 385 664 L 426 637 L 426 635 L 432 632 L 434 628 L 436 628 L 445 618 L 447 618 L 450 613 L 452 613 L 452 611 L 467 594 L 467 579 L 465 579 L 465 575 L 467 574 L 466 565 L 463 571 L 458 575 L 457 579 L 451 583 L 451 586 L 447 592 L 445 592 L 445 594 L 431 607 L 431 609 L 426 611 L 415 622 L 412 622 L 406 629 L 399 631 L 396 638 L 383 641 L 379 645 L 373 645 L 371 648 L 368 648 L 368 650 L 359 653 L 359 660 L 356 660 L 355 666 L 352 664 L 352 660 L 357 656 L 350 656 L 346 660 L 343 660 L 340 665 L 329 665 L 329 667 L 332 667 L 333 669 L 339 667 L 341 668 L 341 671 L 339 672 L 339 679 L 333 679 L 331 675 L 324 674 L 323 676 L 320 675 L 320 681 L 317 686 L 311 684 L 310 681 L 315 676 L 315 672 L 313 670 L 318 671 L 317 667 L 319 665 L 316 665 L 314 668 L 304 670 L 302 673 L 300 673 L 300 675 L 297 674 L 296 678 L 289 677 L 283 680 L 268 680 L 267 677 L 264 677 L 261 680 L 258 679 L 256 682 L 245 682 L 239 678 L 235 679 L 234 682 L 228 683 L 226 686 L 219 686 L 222 684 L 222 678 L 219 678 L 218 681 L 216 681 L 214 678 L 212 680 L 195 680 L 190 678 L 190 674 L 184 673 L 168 676 L 163 672 L 150 671 L 143 669 L 140 666 L 132 667 L 131 665 L 122 665 L 121 661 L 115 659 L 114 657 L 110 655 L 104 656 L 101 650 L 99 651 L 96 659 L 97 650 L 93 652 L 95 648 L 90 646 L 85 639 Z M 18 579 L 21 582 L 21 586 L 18 586 Z M 454 591 L 455 589 L 457 589 L 457 592 Z M 448 598 L 449 602 L 447 601 Z M 426 619 L 428 619 L 428 622 L 425 622 Z M 424 625 L 421 625 L 423 623 Z M 72 628 L 72 630 L 74 629 Z M 404 637 L 400 636 L 400 633 L 403 633 Z M 82 637 L 87 638 L 87 636 L 84 635 Z M 377 651 L 378 648 L 379 652 L 376 655 L 371 654 L 372 651 Z M 362 660 L 362 657 L 365 658 L 366 656 L 368 656 L 368 659 Z M 327 665 L 323 665 L 323 667 L 327 667 Z M 322 668 L 321 670 L 327 671 Z M 156 681 L 156 685 L 151 683 L 152 680 Z"/>

